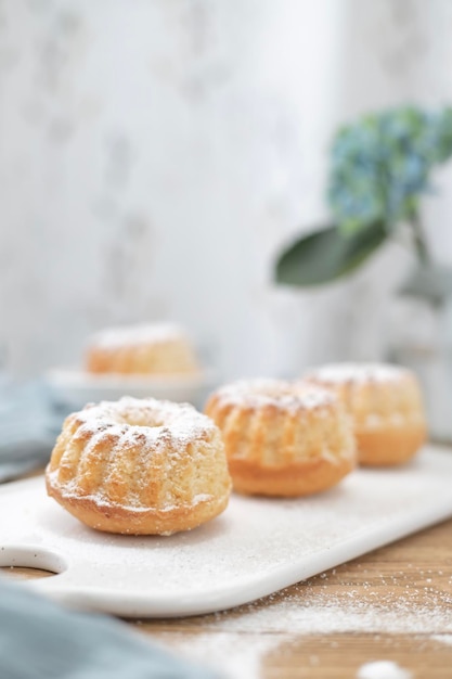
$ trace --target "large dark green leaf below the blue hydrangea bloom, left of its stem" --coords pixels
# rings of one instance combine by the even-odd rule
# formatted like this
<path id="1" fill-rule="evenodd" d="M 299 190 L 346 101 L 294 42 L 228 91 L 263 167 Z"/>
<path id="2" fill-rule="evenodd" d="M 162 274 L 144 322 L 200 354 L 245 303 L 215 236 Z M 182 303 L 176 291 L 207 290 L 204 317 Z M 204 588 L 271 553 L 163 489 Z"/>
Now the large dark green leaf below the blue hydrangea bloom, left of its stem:
<path id="1" fill-rule="evenodd" d="M 330 283 L 358 269 L 387 235 L 379 221 L 347 236 L 336 225 L 309 233 L 277 256 L 275 281 L 300 287 Z"/>

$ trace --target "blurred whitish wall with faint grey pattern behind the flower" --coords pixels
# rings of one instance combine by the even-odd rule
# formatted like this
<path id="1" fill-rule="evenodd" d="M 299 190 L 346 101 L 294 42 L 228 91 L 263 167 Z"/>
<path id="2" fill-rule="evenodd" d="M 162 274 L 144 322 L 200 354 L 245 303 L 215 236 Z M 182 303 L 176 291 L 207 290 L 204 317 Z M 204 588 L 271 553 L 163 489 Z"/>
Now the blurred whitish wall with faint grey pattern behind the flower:
<path id="1" fill-rule="evenodd" d="M 10 368 L 75 363 L 92 331 L 156 319 L 228 379 L 382 355 L 400 247 L 310 294 L 276 289 L 272 262 L 323 216 L 338 121 L 452 100 L 451 38 L 449 0 L 0 0 Z M 427 212 L 450 258 L 448 191 Z"/>

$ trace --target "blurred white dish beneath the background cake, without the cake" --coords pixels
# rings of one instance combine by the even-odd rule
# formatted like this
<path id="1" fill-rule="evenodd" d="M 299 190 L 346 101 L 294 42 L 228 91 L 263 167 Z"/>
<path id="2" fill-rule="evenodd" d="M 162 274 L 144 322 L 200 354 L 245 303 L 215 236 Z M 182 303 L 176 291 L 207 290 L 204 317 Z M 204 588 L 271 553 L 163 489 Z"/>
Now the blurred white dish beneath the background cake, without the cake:
<path id="1" fill-rule="evenodd" d="M 51 398 L 69 408 L 82 408 L 86 403 L 117 400 L 121 396 L 193 403 L 202 408 L 210 390 L 216 386 L 212 370 L 195 375 L 121 375 L 95 374 L 76 369 L 53 369 L 46 374 Z"/>

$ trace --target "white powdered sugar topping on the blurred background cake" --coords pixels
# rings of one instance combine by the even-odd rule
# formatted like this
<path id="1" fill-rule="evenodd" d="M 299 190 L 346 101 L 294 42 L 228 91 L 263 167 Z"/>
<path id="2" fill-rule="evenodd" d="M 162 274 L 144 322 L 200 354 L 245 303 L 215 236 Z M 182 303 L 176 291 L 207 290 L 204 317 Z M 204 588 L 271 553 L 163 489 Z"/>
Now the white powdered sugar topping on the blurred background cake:
<path id="1" fill-rule="evenodd" d="M 140 344 L 160 344 L 185 338 L 184 331 L 176 323 L 141 323 L 107 328 L 91 337 L 91 345 L 101 348 L 135 346 Z"/>

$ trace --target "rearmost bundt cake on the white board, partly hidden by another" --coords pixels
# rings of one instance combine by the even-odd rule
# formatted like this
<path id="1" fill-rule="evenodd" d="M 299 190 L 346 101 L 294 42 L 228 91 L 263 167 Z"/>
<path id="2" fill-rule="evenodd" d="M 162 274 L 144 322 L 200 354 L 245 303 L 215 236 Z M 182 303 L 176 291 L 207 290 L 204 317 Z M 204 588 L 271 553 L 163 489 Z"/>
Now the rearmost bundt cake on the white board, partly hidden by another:
<path id="1" fill-rule="evenodd" d="M 426 440 L 421 388 L 414 373 L 386 363 L 333 363 L 309 372 L 333 389 L 352 415 L 359 462 L 401 464 Z"/>

